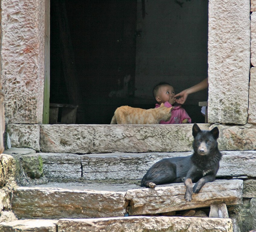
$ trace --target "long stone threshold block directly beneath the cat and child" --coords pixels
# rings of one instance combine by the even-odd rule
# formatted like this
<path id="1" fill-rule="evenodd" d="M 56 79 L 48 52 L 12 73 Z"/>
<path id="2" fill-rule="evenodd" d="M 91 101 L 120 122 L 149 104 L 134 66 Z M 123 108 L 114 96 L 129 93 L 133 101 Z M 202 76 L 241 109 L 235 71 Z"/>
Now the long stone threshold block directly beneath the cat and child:
<path id="1" fill-rule="evenodd" d="M 42 152 L 190 151 L 193 124 L 177 125 L 40 125 Z M 208 129 L 209 124 L 199 124 Z"/>

